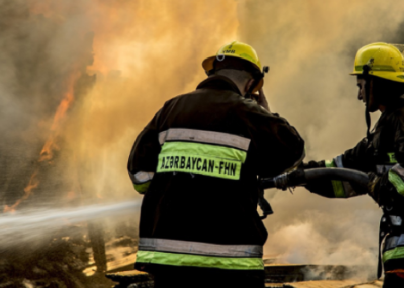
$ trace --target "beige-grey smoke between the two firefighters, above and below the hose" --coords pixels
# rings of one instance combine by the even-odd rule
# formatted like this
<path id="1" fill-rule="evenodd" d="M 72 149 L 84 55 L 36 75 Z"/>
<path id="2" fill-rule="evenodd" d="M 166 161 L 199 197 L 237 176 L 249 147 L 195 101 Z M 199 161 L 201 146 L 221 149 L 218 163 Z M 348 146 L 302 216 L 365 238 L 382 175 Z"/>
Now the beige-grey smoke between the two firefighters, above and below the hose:
<path id="1" fill-rule="evenodd" d="M 271 67 L 264 87 L 270 106 L 305 139 L 305 161 L 332 159 L 366 136 L 364 105 L 348 73 L 363 45 L 404 42 L 398 32 L 404 5 L 242 1 L 238 11 L 240 38 Z M 377 265 L 381 211 L 370 197 L 326 199 L 304 189 L 269 190 L 266 197 L 275 210 L 265 220 L 266 254 L 289 263 Z"/>

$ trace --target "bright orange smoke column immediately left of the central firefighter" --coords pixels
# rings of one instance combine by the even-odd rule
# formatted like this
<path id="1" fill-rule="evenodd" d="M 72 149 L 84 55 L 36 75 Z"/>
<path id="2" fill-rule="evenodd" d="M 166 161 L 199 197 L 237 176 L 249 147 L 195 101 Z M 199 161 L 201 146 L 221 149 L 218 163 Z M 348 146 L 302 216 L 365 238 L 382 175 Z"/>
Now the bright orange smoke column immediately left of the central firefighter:
<path id="1" fill-rule="evenodd" d="M 164 101 L 195 89 L 205 77 L 203 57 L 236 37 L 237 6 L 126 1 L 92 8 L 95 61 L 88 71 L 97 82 L 82 108 L 79 144 L 94 171 L 86 181 L 106 197 L 133 195 L 126 162 L 134 139 Z"/>

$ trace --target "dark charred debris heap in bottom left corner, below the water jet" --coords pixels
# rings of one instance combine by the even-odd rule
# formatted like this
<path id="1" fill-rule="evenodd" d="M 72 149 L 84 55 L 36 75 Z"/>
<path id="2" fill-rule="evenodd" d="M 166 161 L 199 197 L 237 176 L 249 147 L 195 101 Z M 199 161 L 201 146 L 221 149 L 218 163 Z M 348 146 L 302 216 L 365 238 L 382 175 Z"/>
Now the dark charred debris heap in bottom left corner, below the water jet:
<path id="1" fill-rule="evenodd" d="M 24 247 L 23 254 L 14 249 L 2 251 L 1 287 L 110 287 L 103 274 L 87 277 L 83 273 L 88 267 L 87 250 L 91 247 L 84 233 L 83 227 L 72 226 L 48 237 L 47 244 L 41 241 L 32 248 Z"/>

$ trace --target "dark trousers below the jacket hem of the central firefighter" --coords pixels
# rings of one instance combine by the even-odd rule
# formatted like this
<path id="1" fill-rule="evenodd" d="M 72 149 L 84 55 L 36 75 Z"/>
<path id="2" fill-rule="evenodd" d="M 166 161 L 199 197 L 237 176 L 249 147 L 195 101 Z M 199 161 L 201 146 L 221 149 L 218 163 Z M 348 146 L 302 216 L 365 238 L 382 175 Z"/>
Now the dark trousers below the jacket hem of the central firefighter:
<path id="1" fill-rule="evenodd" d="M 264 288 L 264 275 L 243 276 L 220 273 L 156 273 L 154 288 Z"/>

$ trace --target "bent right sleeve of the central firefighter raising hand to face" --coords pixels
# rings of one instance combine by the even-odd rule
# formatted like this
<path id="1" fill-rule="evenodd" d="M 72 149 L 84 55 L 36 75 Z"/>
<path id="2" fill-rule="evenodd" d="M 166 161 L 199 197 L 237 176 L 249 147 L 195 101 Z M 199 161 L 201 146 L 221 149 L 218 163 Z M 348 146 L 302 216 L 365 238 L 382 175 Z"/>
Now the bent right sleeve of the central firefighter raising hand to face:
<path id="1" fill-rule="evenodd" d="M 260 120 L 257 133 L 258 175 L 272 177 L 297 167 L 305 156 L 304 140 L 278 114 Z"/>

